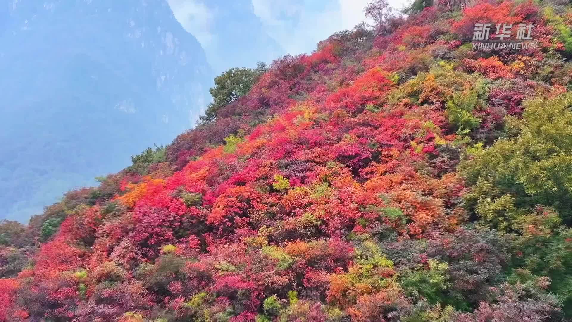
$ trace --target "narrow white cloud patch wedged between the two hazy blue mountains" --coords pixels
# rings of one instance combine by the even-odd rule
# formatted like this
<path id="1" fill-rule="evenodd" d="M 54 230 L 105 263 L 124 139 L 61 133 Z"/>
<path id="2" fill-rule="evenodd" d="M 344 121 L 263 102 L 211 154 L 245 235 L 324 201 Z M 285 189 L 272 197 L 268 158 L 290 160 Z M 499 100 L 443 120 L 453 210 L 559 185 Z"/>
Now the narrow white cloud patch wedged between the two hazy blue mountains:
<path id="1" fill-rule="evenodd" d="M 208 7 L 196 0 L 168 0 L 168 2 L 183 28 L 193 34 L 203 47 L 210 46 L 213 41 L 213 34 L 210 33 L 213 13 Z"/>

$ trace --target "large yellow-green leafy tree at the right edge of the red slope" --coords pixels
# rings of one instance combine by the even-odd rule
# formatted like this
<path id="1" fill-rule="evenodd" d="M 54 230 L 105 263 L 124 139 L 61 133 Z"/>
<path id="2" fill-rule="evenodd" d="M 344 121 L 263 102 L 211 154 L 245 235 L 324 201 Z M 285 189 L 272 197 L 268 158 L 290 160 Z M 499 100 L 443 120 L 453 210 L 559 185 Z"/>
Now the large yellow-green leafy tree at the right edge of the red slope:
<path id="1" fill-rule="evenodd" d="M 522 120 L 507 118 L 507 138 L 471 150 L 460 170 L 473 187 L 467 206 L 489 226 L 514 230 L 537 205 L 572 224 L 572 93 L 526 101 Z"/>

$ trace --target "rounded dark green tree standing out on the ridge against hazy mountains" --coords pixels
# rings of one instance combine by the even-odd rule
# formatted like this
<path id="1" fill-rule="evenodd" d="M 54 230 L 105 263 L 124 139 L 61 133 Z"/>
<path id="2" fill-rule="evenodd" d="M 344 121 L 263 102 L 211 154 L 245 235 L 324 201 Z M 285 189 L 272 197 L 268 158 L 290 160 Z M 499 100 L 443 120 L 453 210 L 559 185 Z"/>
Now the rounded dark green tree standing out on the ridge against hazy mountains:
<path id="1" fill-rule="evenodd" d="M 224 107 L 247 95 L 252 85 L 268 70 L 264 62 L 259 62 L 255 69 L 252 68 L 231 68 L 215 77 L 215 87 L 209 89 L 213 97 L 212 103 L 206 107 L 205 115 L 201 116 L 202 121 L 213 121 L 216 113 Z"/>

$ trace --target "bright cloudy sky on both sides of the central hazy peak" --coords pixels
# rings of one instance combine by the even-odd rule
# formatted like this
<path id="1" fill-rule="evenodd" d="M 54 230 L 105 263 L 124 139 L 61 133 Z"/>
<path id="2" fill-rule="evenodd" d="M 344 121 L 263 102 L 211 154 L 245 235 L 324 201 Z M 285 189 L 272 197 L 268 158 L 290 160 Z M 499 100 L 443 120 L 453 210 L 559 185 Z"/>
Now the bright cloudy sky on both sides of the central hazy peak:
<path id="1" fill-rule="evenodd" d="M 210 26 L 216 12 L 203 0 L 168 0 L 177 20 L 201 43 L 203 48 L 216 46 L 217 35 Z M 205 0 L 208 1 L 208 0 Z M 254 13 L 263 23 L 265 32 L 286 52 L 297 55 L 316 49 L 317 42 L 331 34 L 352 29 L 366 21 L 363 8 L 371 0 L 251 0 Z M 410 0 L 388 0 L 390 6 L 401 9 Z M 249 50 L 237 48 L 237 50 Z"/>

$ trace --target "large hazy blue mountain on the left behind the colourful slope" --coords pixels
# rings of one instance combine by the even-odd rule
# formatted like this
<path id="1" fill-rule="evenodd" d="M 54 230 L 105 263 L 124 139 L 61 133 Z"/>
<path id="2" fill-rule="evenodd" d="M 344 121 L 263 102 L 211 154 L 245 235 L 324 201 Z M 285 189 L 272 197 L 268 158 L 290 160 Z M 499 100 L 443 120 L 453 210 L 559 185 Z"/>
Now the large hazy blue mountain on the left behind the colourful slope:
<path id="1" fill-rule="evenodd" d="M 208 103 L 212 72 L 165 0 L 0 6 L 0 219 L 169 143 Z"/>

